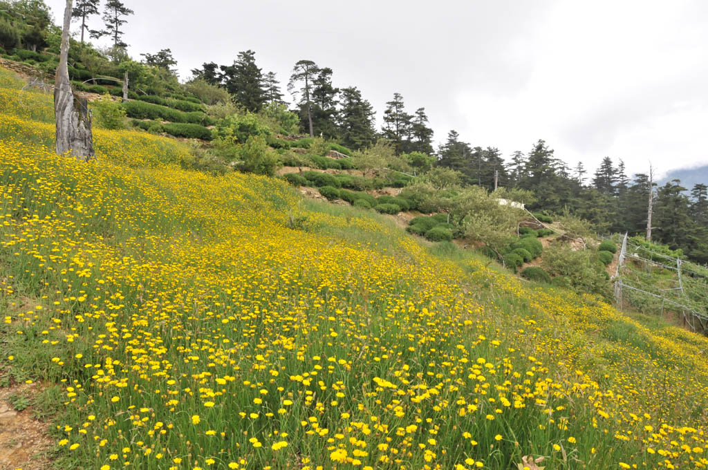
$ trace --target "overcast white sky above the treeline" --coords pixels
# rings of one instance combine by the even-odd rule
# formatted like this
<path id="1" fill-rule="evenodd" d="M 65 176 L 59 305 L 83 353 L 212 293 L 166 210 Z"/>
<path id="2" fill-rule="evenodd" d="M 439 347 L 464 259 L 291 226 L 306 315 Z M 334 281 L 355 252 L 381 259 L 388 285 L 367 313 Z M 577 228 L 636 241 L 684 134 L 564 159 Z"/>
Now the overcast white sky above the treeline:
<path id="1" fill-rule="evenodd" d="M 603 156 L 632 173 L 708 164 L 708 1 L 124 3 L 130 54 L 169 47 L 182 79 L 251 49 L 283 91 L 297 60 L 331 67 L 379 125 L 401 93 L 409 113 L 426 108 L 436 142 L 455 129 L 508 158 L 544 139 L 591 170 Z M 61 18 L 64 1 L 47 4 Z"/>

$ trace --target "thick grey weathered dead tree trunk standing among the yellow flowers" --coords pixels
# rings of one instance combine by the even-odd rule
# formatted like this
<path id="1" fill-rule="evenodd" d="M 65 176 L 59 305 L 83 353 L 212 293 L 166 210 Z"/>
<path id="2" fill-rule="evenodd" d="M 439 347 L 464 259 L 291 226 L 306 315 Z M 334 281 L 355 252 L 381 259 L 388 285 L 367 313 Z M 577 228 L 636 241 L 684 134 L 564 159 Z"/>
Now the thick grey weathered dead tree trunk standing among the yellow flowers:
<path id="1" fill-rule="evenodd" d="M 71 152 L 76 159 L 89 161 L 93 157 L 91 114 L 83 96 L 74 96 L 69 81 L 69 28 L 72 23 L 72 0 L 64 10 L 62 49 L 54 87 L 54 113 L 57 120 L 57 154 Z"/>

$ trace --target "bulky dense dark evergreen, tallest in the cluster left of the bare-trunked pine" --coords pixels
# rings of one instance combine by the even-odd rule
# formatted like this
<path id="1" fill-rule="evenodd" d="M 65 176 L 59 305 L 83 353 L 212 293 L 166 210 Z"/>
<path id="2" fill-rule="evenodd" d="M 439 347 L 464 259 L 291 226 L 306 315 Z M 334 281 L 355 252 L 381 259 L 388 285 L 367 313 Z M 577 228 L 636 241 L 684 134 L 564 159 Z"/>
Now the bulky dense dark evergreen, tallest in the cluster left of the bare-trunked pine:
<path id="1" fill-rule="evenodd" d="M 239 52 L 233 65 L 222 65 L 221 69 L 224 87 L 234 102 L 253 113 L 263 108 L 267 98 L 263 89 L 263 74 L 256 65 L 256 52 Z"/>

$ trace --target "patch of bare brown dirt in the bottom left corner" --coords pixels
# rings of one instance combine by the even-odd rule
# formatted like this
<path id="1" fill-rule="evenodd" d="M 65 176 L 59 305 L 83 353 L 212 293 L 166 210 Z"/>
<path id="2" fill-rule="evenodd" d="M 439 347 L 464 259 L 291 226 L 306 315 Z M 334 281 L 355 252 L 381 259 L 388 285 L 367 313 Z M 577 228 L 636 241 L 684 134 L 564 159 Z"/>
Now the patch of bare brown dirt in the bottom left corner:
<path id="1" fill-rule="evenodd" d="M 35 420 L 33 407 L 24 408 L 18 397 L 38 394 L 35 384 L 0 389 L 0 469 L 44 470 L 50 468 L 49 450 L 54 440 L 49 424 Z M 17 411 L 16 408 L 24 408 Z"/>

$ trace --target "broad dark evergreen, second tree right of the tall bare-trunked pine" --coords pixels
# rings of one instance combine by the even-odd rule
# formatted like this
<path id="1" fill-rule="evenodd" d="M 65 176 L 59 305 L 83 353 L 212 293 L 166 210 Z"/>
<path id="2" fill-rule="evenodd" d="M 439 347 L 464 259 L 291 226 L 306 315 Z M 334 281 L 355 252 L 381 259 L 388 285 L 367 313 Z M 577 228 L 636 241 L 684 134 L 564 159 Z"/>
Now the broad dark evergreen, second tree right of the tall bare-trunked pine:
<path id="1" fill-rule="evenodd" d="M 370 147 L 376 142 L 375 112 L 371 103 L 362 98 L 355 86 L 343 88 L 340 96 L 338 125 L 342 143 L 352 149 Z"/>

